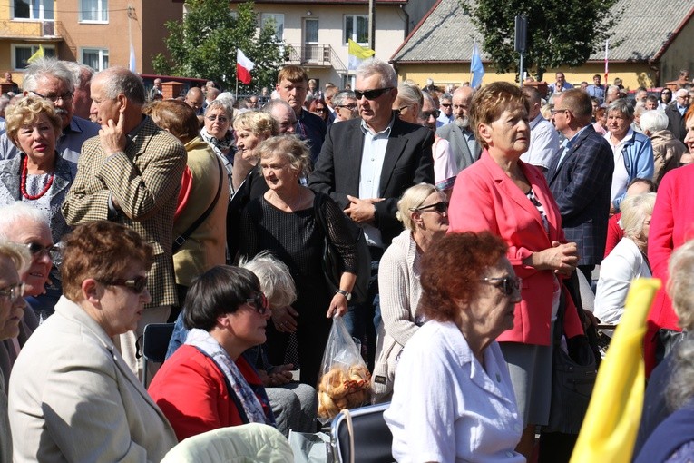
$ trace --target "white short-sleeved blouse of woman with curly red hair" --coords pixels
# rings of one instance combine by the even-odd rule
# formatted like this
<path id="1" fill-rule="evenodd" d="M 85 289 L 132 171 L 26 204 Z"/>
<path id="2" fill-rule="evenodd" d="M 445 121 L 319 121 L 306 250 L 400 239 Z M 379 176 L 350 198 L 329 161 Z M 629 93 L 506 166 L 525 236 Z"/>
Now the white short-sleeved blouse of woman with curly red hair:
<path id="1" fill-rule="evenodd" d="M 407 341 L 384 413 L 398 462 L 521 463 L 523 421 L 499 344 L 484 367 L 452 322 L 428 321 Z"/>

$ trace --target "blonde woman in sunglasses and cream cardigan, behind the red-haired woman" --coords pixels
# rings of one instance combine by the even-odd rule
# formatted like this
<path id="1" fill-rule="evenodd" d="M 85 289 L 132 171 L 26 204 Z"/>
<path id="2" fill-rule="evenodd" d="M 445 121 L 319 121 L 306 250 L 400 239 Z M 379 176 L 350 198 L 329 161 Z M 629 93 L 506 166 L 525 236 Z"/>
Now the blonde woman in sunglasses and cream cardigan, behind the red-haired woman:
<path id="1" fill-rule="evenodd" d="M 371 377 L 376 402 L 390 399 L 400 352 L 424 321 L 418 309 L 422 256 L 448 230 L 448 202 L 434 185 L 408 188 L 397 209 L 405 230 L 388 246 L 378 268 L 382 317 L 378 337 L 383 342 Z"/>

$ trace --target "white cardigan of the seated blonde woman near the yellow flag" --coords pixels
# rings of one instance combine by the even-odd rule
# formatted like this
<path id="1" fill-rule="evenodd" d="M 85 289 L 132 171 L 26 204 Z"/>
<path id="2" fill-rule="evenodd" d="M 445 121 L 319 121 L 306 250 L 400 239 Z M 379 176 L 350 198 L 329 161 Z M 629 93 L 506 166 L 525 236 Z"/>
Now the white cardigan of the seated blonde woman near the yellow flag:
<path id="1" fill-rule="evenodd" d="M 624 237 L 600 265 L 593 313 L 601 323 L 620 322 L 631 281 L 637 278 L 650 278 L 649 265 L 636 243 Z"/>

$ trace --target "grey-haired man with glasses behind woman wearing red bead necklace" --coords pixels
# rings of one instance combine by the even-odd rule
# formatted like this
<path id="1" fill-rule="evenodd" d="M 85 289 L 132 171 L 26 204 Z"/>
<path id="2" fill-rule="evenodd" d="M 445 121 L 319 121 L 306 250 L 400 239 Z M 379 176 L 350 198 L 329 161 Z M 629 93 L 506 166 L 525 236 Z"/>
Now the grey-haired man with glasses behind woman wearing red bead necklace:
<path id="1" fill-rule="evenodd" d="M 99 125 L 73 115 L 74 74 L 64 62 L 40 58 L 26 68 L 24 95 L 33 94 L 53 103 L 55 113 L 63 120 L 63 133 L 56 140 L 55 150 L 66 161 L 76 164 L 83 143 L 99 133 Z M 19 155 L 19 149 L 7 133 L 0 135 L 0 159 Z"/>

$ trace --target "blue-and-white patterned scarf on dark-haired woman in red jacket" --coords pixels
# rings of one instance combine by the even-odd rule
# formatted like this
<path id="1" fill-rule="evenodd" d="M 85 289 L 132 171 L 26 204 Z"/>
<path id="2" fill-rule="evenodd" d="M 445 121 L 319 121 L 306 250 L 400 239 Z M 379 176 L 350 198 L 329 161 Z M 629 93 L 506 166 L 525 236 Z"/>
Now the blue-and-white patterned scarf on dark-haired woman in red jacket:
<path id="1" fill-rule="evenodd" d="M 248 381 L 239 371 L 236 362 L 231 360 L 227 351 L 220 346 L 217 340 L 210 336 L 210 333 L 194 328 L 188 333 L 185 343 L 201 350 L 217 363 L 231 386 L 232 390 L 230 392 L 236 395 L 243 411 L 246 412 L 249 423 L 264 423 L 275 426 L 274 417 L 271 413 L 269 417 L 265 416 L 258 397 L 250 389 Z"/>

